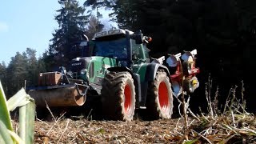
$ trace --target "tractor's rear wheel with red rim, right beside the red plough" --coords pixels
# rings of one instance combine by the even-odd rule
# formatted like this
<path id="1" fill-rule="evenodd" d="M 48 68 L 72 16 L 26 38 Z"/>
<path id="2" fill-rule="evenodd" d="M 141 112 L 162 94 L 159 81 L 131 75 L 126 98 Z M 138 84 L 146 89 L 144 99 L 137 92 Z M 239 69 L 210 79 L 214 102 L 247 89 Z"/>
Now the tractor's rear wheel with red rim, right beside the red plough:
<path id="1" fill-rule="evenodd" d="M 158 70 L 153 82 L 149 82 L 146 96 L 147 117 L 150 119 L 171 118 L 173 94 L 169 78 L 164 70 Z"/>

